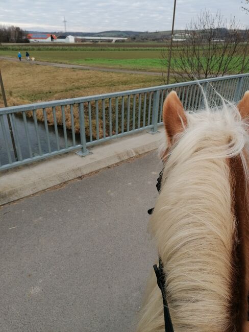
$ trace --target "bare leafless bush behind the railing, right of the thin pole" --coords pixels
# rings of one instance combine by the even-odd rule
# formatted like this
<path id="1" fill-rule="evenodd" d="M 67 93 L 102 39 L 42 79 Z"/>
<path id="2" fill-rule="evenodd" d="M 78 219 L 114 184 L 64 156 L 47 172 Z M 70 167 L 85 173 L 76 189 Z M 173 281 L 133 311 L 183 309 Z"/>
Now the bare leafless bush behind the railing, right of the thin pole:
<path id="1" fill-rule="evenodd" d="M 241 73 L 249 66 L 247 36 L 235 18 L 205 11 L 187 26 L 185 40 L 173 44 L 170 72 L 177 82 Z M 162 57 L 168 66 L 167 53 Z"/>

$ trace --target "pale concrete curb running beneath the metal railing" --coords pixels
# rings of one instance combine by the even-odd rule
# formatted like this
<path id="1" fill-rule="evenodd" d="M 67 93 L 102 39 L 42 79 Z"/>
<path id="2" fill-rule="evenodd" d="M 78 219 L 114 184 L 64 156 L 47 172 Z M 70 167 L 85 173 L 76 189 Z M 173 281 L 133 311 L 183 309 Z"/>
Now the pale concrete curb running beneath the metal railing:
<path id="1" fill-rule="evenodd" d="M 163 137 L 163 132 L 152 135 L 143 131 L 95 146 L 93 153 L 83 158 L 68 153 L 5 171 L 0 174 L 0 205 L 155 150 Z"/>

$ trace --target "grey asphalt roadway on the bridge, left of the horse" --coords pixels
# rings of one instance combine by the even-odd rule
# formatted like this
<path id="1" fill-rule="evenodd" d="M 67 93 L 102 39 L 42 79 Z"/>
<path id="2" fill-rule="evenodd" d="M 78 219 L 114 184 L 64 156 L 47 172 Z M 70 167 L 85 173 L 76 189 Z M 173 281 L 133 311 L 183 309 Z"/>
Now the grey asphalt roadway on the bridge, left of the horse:
<path id="1" fill-rule="evenodd" d="M 1 332 L 135 329 L 156 152 L 0 209 Z"/>

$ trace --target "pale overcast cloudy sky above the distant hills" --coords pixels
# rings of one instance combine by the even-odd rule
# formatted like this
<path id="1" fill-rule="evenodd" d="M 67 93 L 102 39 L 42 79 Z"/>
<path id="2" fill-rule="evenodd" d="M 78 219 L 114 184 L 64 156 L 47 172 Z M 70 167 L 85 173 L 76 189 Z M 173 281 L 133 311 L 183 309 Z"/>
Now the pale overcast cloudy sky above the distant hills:
<path id="1" fill-rule="evenodd" d="M 249 7 L 249 5 L 248 5 Z M 249 15 L 241 10 L 240 0 L 177 0 L 176 29 L 201 10 L 208 9 L 230 19 L 235 16 L 249 26 Z M 98 32 L 105 30 L 170 30 L 173 0 L 0 0 L 0 23 L 26 30 Z"/>

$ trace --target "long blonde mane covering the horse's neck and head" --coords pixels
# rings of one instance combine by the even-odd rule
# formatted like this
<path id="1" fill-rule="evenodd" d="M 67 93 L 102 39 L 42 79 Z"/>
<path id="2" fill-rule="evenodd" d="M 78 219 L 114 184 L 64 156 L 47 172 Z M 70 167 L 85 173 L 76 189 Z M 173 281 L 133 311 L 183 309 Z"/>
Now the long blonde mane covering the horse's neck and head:
<path id="1" fill-rule="evenodd" d="M 186 113 L 173 140 L 150 220 L 164 265 L 175 332 L 229 330 L 236 217 L 229 158 L 240 156 L 248 183 L 248 128 L 237 107 Z M 148 291 L 139 331 L 165 331 L 161 292 Z M 232 330 L 232 329 L 231 329 Z"/>

